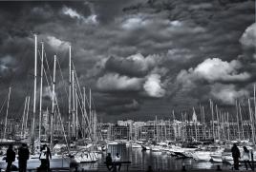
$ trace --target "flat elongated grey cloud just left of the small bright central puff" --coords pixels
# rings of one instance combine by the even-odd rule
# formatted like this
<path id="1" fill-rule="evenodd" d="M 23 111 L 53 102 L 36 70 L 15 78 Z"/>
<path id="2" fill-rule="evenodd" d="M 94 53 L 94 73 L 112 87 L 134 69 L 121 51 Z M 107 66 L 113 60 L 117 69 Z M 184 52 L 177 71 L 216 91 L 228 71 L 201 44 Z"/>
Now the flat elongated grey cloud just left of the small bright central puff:
<path id="1" fill-rule="evenodd" d="M 130 78 L 117 73 L 107 73 L 98 78 L 96 87 L 101 91 L 139 91 L 142 80 L 140 78 Z"/>

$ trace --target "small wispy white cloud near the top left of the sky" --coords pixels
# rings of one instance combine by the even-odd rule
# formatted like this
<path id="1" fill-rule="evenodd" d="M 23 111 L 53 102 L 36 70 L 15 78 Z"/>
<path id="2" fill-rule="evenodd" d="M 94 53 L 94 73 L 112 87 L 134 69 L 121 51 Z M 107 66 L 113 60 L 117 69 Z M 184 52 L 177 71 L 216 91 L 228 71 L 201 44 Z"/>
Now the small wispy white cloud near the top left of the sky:
<path id="1" fill-rule="evenodd" d="M 96 20 L 96 14 L 92 14 L 88 17 L 84 17 L 82 14 L 79 14 L 76 10 L 73 10 L 73 9 L 67 8 L 67 7 L 64 7 L 62 9 L 62 11 L 65 15 L 68 15 L 71 18 L 76 18 L 78 20 L 81 20 L 86 24 L 97 24 L 98 23 Z"/>

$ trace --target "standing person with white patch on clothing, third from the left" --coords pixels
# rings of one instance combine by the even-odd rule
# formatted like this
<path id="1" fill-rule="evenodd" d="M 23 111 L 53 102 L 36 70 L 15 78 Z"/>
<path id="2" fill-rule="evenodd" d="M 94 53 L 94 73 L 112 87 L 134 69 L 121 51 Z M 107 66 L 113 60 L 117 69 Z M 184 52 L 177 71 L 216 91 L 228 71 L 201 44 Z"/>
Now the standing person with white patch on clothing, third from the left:
<path id="1" fill-rule="evenodd" d="M 52 159 L 52 154 L 47 144 L 43 145 L 39 159 L 41 161 L 40 169 L 50 171 L 50 159 Z"/>

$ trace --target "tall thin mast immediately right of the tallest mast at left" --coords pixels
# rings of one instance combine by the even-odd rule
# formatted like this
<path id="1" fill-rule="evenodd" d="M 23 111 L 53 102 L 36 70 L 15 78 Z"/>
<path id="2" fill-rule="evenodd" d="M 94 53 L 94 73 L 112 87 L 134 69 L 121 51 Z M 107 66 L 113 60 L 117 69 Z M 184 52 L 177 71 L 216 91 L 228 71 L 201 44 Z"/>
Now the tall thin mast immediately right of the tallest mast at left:
<path id="1" fill-rule="evenodd" d="M 42 42 L 41 71 L 40 71 L 40 93 L 39 93 L 39 145 L 41 143 L 41 119 L 42 119 L 42 95 L 43 95 L 43 72 L 44 72 L 44 43 Z"/>

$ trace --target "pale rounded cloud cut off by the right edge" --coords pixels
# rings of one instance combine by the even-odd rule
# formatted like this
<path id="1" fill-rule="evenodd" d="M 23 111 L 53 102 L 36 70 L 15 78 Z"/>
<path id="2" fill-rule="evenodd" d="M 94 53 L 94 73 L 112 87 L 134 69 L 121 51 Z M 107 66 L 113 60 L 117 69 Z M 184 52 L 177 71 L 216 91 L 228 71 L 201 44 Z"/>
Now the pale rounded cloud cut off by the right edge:
<path id="1" fill-rule="evenodd" d="M 256 23 L 245 29 L 240 42 L 245 48 L 256 48 Z"/>

